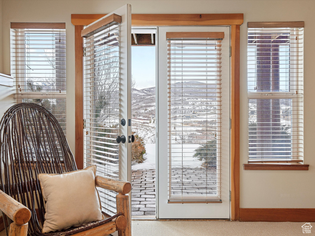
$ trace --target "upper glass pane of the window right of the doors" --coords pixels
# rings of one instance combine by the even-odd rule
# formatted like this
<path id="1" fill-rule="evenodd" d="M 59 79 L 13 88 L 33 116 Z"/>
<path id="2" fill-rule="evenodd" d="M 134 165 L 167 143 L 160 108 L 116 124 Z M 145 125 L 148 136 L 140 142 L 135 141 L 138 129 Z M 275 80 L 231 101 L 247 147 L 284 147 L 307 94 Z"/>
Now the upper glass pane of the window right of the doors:
<path id="1" fill-rule="evenodd" d="M 248 33 L 248 91 L 290 92 L 290 33 Z"/>

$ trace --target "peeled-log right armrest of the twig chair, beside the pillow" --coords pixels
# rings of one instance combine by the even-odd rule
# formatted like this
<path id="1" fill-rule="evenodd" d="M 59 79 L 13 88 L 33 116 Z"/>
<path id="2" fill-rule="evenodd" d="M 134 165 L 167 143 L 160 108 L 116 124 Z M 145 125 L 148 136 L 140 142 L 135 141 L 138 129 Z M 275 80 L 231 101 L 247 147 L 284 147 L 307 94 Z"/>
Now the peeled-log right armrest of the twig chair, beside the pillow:
<path id="1" fill-rule="evenodd" d="M 131 183 L 99 175 L 95 177 L 95 185 L 120 194 L 128 194 L 131 191 Z"/>

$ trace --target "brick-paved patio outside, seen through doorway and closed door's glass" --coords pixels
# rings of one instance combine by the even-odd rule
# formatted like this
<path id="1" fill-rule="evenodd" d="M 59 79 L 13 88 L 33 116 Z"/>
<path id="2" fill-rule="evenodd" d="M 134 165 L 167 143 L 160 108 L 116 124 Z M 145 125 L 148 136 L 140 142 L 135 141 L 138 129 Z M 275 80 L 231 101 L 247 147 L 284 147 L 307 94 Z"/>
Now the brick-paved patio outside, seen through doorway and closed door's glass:
<path id="1" fill-rule="evenodd" d="M 155 215 L 155 170 L 133 170 L 131 215 Z M 216 194 L 217 174 L 204 168 L 172 169 L 172 194 Z"/>

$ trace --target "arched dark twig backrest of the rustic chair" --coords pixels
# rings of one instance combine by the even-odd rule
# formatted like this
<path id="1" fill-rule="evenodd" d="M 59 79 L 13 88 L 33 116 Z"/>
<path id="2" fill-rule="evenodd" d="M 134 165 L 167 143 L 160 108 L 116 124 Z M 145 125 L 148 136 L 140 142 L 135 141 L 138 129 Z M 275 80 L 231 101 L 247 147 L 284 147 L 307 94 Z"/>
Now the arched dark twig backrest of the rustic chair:
<path id="1" fill-rule="evenodd" d="M 37 175 L 77 170 L 65 134 L 47 109 L 19 103 L 0 122 L 0 144 L 1 190 L 31 210 L 28 234 L 43 235 L 37 219 L 43 224 L 45 208 Z M 11 222 L 3 214 L 6 220 Z"/>

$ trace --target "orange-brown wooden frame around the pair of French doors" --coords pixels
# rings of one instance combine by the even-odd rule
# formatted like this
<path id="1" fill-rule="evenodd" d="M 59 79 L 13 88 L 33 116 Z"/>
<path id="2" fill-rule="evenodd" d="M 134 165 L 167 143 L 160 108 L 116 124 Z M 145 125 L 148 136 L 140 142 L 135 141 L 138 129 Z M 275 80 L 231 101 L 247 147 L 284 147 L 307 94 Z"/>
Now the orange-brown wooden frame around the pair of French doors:
<path id="1" fill-rule="evenodd" d="M 81 31 L 106 14 L 72 14 L 75 25 L 75 160 L 83 168 L 83 38 Z M 231 26 L 231 220 L 239 220 L 240 25 L 243 14 L 132 14 L 132 26 Z"/>

